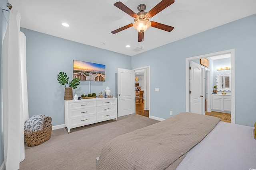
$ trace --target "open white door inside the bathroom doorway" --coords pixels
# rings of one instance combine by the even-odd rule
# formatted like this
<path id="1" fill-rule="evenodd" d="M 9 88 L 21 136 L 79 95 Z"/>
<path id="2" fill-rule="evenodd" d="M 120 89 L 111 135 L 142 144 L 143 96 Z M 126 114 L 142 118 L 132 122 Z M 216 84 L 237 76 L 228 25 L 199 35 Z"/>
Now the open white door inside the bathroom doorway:
<path id="1" fill-rule="evenodd" d="M 203 86 L 201 79 L 201 65 L 191 61 L 190 66 L 190 112 L 203 114 Z"/>

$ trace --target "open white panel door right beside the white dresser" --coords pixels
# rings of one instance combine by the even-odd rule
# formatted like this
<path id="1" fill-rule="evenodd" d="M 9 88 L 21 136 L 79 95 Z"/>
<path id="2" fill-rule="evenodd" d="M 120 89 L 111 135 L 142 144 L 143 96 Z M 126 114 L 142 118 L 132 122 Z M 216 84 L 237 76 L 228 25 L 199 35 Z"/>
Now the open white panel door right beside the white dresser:
<path id="1" fill-rule="evenodd" d="M 118 94 L 118 117 L 135 113 L 135 84 L 134 70 L 118 68 L 117 94 Z"/>

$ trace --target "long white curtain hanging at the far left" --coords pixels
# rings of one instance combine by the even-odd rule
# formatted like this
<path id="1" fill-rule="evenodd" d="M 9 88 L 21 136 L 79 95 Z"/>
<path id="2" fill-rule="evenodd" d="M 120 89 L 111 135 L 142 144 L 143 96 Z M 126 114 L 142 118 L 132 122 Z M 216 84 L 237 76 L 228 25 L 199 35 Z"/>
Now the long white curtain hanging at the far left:
<path id="1" fill-rule="evenodd" d="M 12 8 L 3 43 L 4 163 L 18 170 L 25 158 L 24 121 L 28 119 L 26 37 L 20 13 Z"/>

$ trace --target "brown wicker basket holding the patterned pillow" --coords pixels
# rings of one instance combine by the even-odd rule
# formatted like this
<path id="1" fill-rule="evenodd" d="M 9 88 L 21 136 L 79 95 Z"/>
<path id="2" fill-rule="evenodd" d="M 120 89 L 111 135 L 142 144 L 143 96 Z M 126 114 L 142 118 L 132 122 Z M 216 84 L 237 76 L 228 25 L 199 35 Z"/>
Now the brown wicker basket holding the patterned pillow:
<path id="1" fill-rule="evenodd" d="M 28 147 L 34 147 L 49 140 L 52 135 L 52 118 L 44 118 L 44 127 L 40 131 L 24 132 L 25 141 Z"/>

